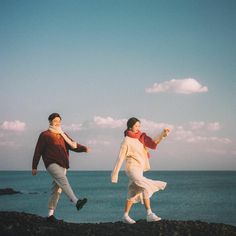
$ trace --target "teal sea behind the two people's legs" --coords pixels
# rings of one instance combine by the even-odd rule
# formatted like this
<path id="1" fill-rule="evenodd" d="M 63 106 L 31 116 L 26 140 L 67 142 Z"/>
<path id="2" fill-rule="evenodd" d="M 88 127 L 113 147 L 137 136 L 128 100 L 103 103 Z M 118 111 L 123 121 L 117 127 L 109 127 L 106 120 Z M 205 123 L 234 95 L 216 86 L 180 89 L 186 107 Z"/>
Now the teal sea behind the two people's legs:
<path id="1" fill-rule="evenodd" d="M 199 220 L 236 226 L 236 171 L 149 171 L 147 178 L 167 182 L 163 191 L 151 198 L 153 212 L 165 220 Z M 69 182 L 87 204 L 77 211 L 64 193 L 55 216 L 73 223 L 120 221 L 127 196 L 124 171 L 112 184 L 111 171 L 68 171 Z M 0 188 L 13 188 L 22 194 L 1 195 L 0 211 L 18 211 L 47 216 L 51 177 L 46 171 L 0 171 Z M 134 204 L 130 216 L 145 219 L 141 203 Z"/>

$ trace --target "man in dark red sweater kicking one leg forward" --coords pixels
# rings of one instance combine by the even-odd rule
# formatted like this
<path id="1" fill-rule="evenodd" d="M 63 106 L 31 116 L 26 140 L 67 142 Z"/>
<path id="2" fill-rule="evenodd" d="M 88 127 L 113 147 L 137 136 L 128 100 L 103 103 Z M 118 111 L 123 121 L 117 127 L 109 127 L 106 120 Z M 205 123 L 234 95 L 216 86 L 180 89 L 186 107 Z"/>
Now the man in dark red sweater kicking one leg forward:
<path id="1" fill-rule="evenodd" d="M 74 152 L 89 152 L 90 149 L 73 141 L 61 129 L 61 116 L 52 113 L 48 117 L 49 128 L 43 131 L 38 138 L 32 161 L 32 175 L 37 174 L 37 166 L 42 156 L 45 168 L 52 177 L 52 193 L 48 202 L 48 221 L 57 221 L 54 212 L 63 191 L 80 210 L 87 202 L 86 198 L 78 199 L 75 196 L 66 177 L 69 168 L 69 150 Z"/>

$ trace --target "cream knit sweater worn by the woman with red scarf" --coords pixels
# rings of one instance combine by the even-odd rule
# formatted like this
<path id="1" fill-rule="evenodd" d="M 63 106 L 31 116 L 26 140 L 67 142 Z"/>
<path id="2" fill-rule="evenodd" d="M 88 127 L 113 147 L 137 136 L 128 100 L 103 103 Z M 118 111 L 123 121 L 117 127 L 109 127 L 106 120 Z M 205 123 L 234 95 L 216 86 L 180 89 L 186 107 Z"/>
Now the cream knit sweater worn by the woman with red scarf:
<path id="1" fill-rule="evenodd" d="M 143 144 L 138 139 L 126 136 L 121 143 L 119 156 L 111 174 L 112 183 L 118 182 L 119 171 L 124 160 L 126 160 L 126 171 L 129 170 L 130 167 L 138 167 L 143 171 L 150 169 L 147 152 Z"/>

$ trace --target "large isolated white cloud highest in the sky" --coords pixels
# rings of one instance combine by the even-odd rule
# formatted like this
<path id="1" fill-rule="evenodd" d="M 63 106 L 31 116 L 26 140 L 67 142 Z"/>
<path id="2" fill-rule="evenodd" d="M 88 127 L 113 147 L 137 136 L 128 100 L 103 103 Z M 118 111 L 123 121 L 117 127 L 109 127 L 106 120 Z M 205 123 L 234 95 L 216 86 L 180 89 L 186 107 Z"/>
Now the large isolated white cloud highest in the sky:
<path id="1" fill-rule="evenodd" d="M 172 79 L 163 83 L 154 83 L 151 88 L 147 88 L 147 93 L 173 92 L 181 94 L 202 93 L 207 92 L 208 88 L 202 86 L 193 78 Z"/>

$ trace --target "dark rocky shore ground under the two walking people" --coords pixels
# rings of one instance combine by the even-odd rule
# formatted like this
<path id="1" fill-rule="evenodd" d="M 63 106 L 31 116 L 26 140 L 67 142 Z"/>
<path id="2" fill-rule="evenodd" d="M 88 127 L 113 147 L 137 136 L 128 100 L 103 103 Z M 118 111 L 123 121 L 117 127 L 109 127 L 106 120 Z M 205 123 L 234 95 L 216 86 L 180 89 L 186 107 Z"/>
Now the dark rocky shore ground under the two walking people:
<path id="1" fill-rule="evenodd" d="M 136 224 L 122 222 L 68 223 L 48 222 L 45 217 L 24 212 L 0 212 L 0 235 L 4 236 L 234 236 L 236 227 L 201 221 L 161 220 Z"/>

